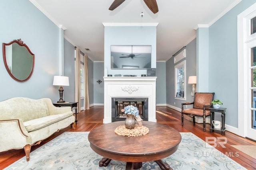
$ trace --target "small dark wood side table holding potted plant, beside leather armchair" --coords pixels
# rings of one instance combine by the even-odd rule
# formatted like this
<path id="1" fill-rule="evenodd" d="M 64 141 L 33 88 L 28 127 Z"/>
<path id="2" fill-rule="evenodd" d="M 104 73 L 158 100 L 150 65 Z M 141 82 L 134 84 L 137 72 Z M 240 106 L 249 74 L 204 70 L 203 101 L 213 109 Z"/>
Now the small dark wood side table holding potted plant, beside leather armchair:
<path id="1" fill-rule="evenodd" d="M 225 133 L 225 111 L 227 108 L 224 107 L 220 107 L 218 109 L 215 108 L 210 108 L 210 133 L 212 133 L 212 131 L 217 130 L 221 132 L 221 135 L 224 135 Z M 214 120 L 214 112 L 219 112 L 221 113 L 221 128 L 220 129 L 214 129 L 214 125 L 212 124 L 212 121 Z"/>

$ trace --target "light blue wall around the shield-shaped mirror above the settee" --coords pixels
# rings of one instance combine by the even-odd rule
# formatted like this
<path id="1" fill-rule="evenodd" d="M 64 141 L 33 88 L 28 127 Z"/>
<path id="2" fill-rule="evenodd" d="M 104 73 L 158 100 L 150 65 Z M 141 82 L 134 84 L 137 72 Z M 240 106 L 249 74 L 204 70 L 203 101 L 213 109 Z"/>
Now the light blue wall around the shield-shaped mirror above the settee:
<path id="1" fill-rule="evenodd" d="M 1 1 L 1 43 L 21 39 L 35 54 L 34 72 L 26 82 L 10 77 L 2 60 L 0 47 L 0 101 L 12 97 L 59 99 L 58 88 L 52 86 L 59 75 L 59 28 L 28 0 Z"/>

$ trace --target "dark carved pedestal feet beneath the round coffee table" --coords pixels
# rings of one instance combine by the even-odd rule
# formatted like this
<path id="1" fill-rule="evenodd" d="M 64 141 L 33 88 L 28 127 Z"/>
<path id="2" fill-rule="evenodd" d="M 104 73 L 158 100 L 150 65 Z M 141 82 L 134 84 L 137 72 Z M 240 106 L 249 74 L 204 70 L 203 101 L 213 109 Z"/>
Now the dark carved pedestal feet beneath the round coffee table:
<path id="1" fill-rule="evenodd" d="M 99 162 L 99 166 L 108 166 L 111 160 L 112 159 L 102 158 Z M 159 165 L 161 170 L 172 170 L 170 165 L 167 164 L 166 162 L 163 162 L 161 159 L 154 160 L 154 162 L 156 162 Z M 141 167 L 142 167 L 142 162 L 126 162 L 126 170 L 139 169 Z"/>

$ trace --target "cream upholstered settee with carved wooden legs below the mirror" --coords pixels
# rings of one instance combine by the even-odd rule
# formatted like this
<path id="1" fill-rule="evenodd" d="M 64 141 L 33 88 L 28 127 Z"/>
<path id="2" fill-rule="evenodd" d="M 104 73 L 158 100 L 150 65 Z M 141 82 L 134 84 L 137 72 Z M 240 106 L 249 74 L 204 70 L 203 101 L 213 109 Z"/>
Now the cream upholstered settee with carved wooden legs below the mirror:
<path id="1" fill-rule="evenodd" d="M 71 107 L 55 107 L 42 98 L 10 98 L 0 102 L 0 152 L 24 148 L 29 161 L 32 145 L 71 125 L 75 127 Z"/>

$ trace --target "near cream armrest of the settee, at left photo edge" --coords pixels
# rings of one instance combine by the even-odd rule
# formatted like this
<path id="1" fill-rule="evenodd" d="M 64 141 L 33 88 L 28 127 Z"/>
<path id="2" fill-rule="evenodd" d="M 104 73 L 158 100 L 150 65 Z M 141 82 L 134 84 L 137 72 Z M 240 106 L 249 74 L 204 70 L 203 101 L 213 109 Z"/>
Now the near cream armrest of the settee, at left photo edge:
<path id="1" fill-rule="evenodd" d="M 21 119 L 0 120 L 0 152 L 20 149 L 32 143 Z"/>

